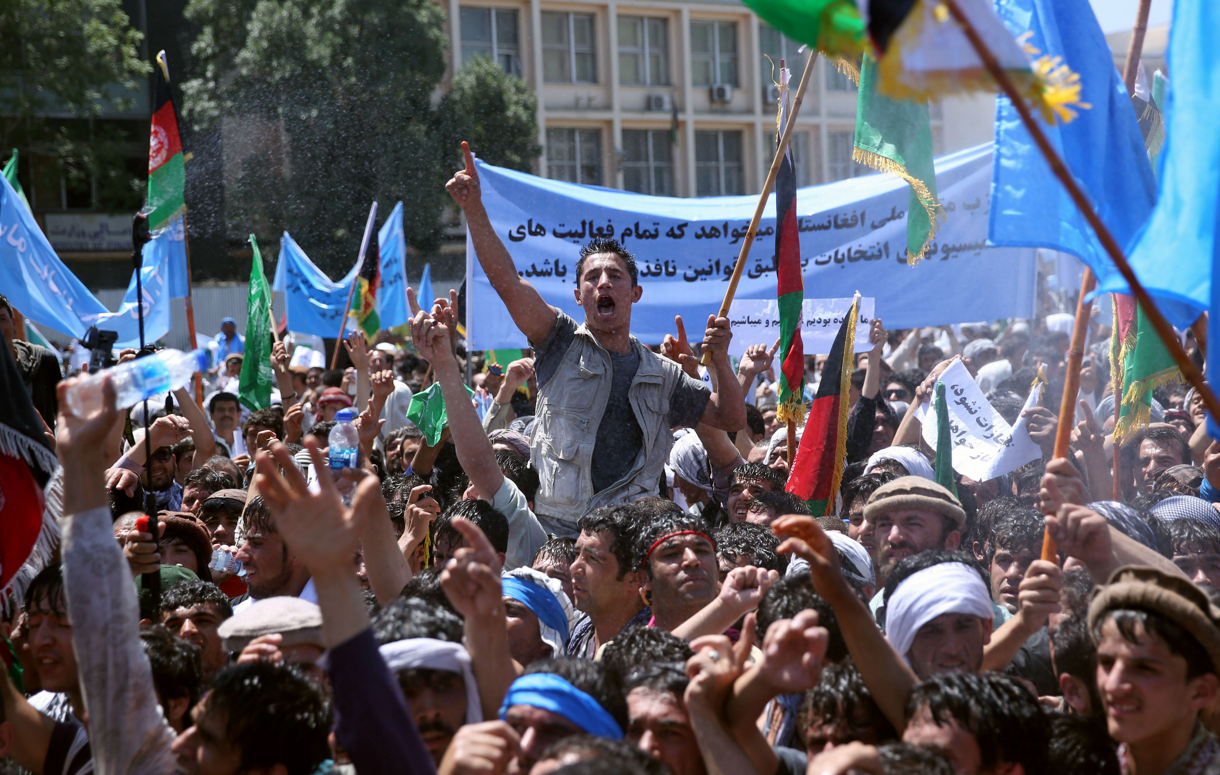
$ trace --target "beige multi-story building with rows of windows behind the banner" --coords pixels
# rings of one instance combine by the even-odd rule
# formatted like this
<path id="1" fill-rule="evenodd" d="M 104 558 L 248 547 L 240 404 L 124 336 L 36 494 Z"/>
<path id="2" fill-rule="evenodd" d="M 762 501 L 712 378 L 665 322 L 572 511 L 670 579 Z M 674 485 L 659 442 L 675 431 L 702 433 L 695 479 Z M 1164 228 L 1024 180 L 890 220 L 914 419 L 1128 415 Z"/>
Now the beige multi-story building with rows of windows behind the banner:
<path id="1" fill-rule="evenodd" d="M 737 0 L 443 0 L 451 67 L 488 56 L 538 95 L 539 175 L 669 196 L 755 194 L 780 60 L 806 52 Z M 773 63 L 773 67 L 772 67 Z M 816 57 L 793 136 L 800 185 L 852 161 L 855 85 Z M 991 97 L 932 105 L 937 154 L 991 138 Z"/>

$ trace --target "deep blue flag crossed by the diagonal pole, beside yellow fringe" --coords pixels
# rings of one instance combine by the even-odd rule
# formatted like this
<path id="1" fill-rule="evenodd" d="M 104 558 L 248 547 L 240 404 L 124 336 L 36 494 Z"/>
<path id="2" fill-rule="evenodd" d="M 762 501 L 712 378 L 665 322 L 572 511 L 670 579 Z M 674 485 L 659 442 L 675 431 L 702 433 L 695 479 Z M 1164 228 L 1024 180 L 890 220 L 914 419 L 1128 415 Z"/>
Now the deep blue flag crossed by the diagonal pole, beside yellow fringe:
<path id="1" fill-rule="evenodd" d="M 1061 56 L 1080 74 L 1091 105 L 1066 124 L 1043 130 L 1120 246 L 1152 212 L 1157 179 L 1139 124 L 1110 48 L 1087 0 L 998 0 L 1009 32 L 1042 54 Z M 1022 39 L 1024 40 L 1024 39 Z M 953 216 L 950 214 L 950 218 Z M 1118 269 L 1063 184 L 1050 172 L 1011 101 L 996 101 L 996 157 L 988 245 L 1026 245 L 1071 253 L 1099 283 Z"/>

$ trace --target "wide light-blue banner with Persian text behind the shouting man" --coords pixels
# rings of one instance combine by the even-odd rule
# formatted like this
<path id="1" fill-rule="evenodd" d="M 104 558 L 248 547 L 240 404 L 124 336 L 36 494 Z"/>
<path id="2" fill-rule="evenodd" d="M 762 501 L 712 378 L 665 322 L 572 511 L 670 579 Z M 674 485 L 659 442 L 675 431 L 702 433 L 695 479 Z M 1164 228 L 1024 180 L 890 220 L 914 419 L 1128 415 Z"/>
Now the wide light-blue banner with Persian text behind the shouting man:
<path id="1" fill-rule="evenodd" d="M 547 180 L 476 161 L 483 203 L 518 273 L 577 320 L 576 261 L 590 239 L 636 255 L 644 288 L 632 334 L 659 344 L 681 314 L 691 331 L 716 312 L 758 197 L 677 199 Z M 888 328 L 1031 317 L 1035 251 L 987 247 L 992 144 L 936 163 L 948 212 L 927 258 L 906 264 L 908 185 L 870 174 L 797 193 L 805 295 L 876 299 Z M 767 203 L 737 299 L 775 299 L 775 201 Z M 471 347 L 528 346 L 478 266 L 467 239 Z M 771 344 L 771 342 L 767 342 Z"/>

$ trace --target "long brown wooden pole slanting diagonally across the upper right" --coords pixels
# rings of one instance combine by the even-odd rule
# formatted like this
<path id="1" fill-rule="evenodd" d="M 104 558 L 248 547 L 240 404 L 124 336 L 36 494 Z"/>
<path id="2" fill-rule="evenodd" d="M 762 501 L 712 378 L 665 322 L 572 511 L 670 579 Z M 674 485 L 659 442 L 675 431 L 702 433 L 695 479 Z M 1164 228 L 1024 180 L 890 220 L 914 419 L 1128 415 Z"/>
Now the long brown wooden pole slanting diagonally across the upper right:
<path id="1" fill-rule="evenodd" d="M 1136 273 L 1131 269 L 1131 264 L 1127 263 L 1127 257 L 1122 253 L 1122 249 L 1114 240 L 1114 235 L 1110 234 L 1110 229 L 1097 214 L 1097 211 L 1093 210 L 1093 205 L 1088 201 L 1088 196 L 1080 188 L 1080 184 L 1076 183 L 1076 178 L 1072 177 L 1068 166 L 1064 165 L 1064 161 L 1059 157 L 1058 151 L 1055 151 L 1054 146 L 1050 145 L 1050 141 L 1047 139 L 1042 127 L 1033 118 L 1033 113 L 1030 112 L 1028 105 L 1025 104 L 1025 100 L 1017 91 L 1013 79 L 1008 77 L 1008 73 L 1004 72 L 1004 68 L 1000 67 L 999 62 L 996 60 L 996 55 L 987 48 L 987 44 L 983 43 L 978 32 L 970 23 L 970 19 L 965 13 L 963 13 L 961 6 L 958 5 L 958 0 L 944 0 L 944 5 L 949 9 L 949 13 L 953 15 L 953 18 L 956 19 L 958 24 L 961 27 L 961 32 L 970 40 L 970 44 L 978 54 L 978 58 L 982 60 L 987 72 L 996 80 L 1004 94 L 1013 101 L 1013 106 L 1021 116 L 1021 123 L 1025 124 L 1030 136 L 1033 138 L 1038 150 L 1042 151 L 1043 157 L 1046 157 L 1047 163 L 1050 165 L 1050 169 L 1055 173 L 1055 177 L 1059 178 L 1064 189 L 1068 190 L 1072 202 L 1075 202 L 1081 214 L 1085 216 L 1085 219 L 1088 221 L 1088 225 L 1093 228 L 1093 233 L 1097 234 L 1097 239 L 1102 242 L 1102 246 L 1105 247 L 1105 252 L 1108 252 L 1110 258 L 1114 260 L 1114 266 L 1122 275 L 1122 279 L 1126 280 L 1127 285 L 1131 288 L 1132 295 L 1136 297 L 1141 308 L 1143 308 L 1144 314 L 1148 316 L 1148 320 L 1152 323 L 1157 335 L 1165 344 L 1165 349 L 1169 350 L 1169 355 L 1172 356 L 1174 362 L 1177 363 L 1177 368 L 1182 370 L 1182 375 L 1186 378 L 1186 381 L 1199 391 L 1199 395 L 1203 397 L 1203 402 L 1207 405 L 1208 411 L 1211 412 L 1211 416 L 1220 417 L 1220 401 L 1216 400 L 1216 395 L 1211 391 L 1211 388 L 1203 381 L 1203 373 L 1197 366 L 1194 366 L 1194 362 L 1190 358 L 1190 356 L 1186 355 L 1182 342 L 1180 342 L 1177 336 L 1174 334 L 1174 327 L 1170 325 L 1169 320 L 1166 320 L 1160 313 L 1160 310 L 1157 308 L 1152 296 L 1144 289 L 1143 284 L 1139 283 Z"/>

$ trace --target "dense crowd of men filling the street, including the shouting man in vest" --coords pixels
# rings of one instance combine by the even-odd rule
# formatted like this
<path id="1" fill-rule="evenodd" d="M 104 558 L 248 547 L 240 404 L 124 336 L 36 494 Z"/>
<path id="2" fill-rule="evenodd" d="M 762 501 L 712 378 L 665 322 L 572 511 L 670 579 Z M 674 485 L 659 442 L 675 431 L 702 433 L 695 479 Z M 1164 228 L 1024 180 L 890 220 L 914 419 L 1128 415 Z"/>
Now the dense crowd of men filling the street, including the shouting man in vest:
<path id="1" fill-rule="evenodd" d="M 7 771 L 1220 774 L 1220 445 L 1196 395 L 1157 391 L 1115 483 L 1104 357 L 1050 459 L 1070 316 L 874 320 L 841 490 L 810 514 L 773 347 L 734 368 L 716 317 L 634 339 L 614 240 L 581 251 L 576 320 L 517 274 L 472 165 L 448 189 L 532 347 L 475 385 L 450 299 L 410 345 L 353 335 L 348 369 L 277 345 L 270 408 L 235 395 L 229 322 L 203 406 L 188 386 L 126 423 L 105 381 L 82 418 L 0 303 L 62 530 L 5 607 Z M 955 359 L 1042 459 L 937 484 L 916 409 Z M 433 385 L 429 439 L 406 407 Z M 349 408 L 361 464 L 332 473 Z"/>

